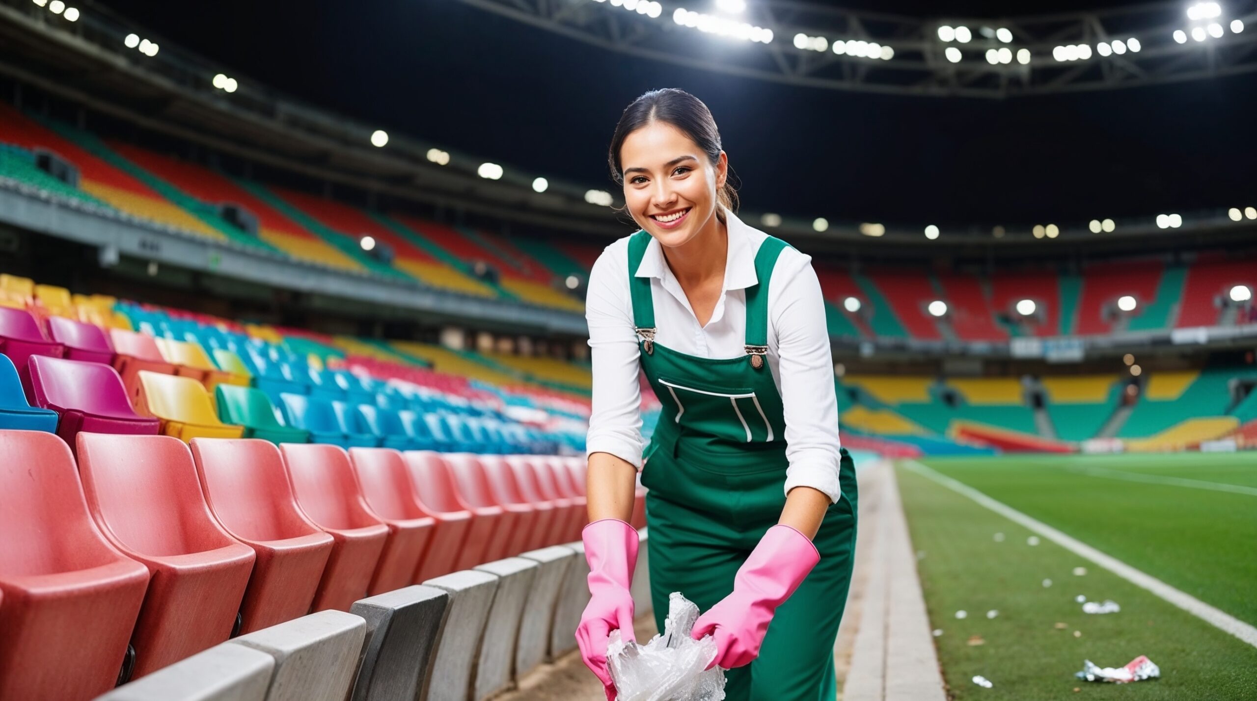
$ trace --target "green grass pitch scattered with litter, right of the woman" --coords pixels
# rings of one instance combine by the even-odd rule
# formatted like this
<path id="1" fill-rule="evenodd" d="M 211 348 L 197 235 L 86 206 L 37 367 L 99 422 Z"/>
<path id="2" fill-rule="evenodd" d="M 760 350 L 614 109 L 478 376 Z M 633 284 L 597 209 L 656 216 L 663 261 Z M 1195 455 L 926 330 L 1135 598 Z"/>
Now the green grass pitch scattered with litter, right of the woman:
<path id="1" fill-rule="evenodd" d="M 923 462 L 1257 624 L 1252 454 Z M 954 698 L 1257 698 L 1257 648 L 1047 539 L 1029 545 L 1032 531 L 921 474 L 901 465 L 896 475 L 921 557 L 930 622 L 943 631 L 939 661 Z M 1075 575 L 1076 567 L 1086 574 Z M 1121 612 L 1085 614 L 1075 602 L 1079 594 L 1114 599 Z M 960 609 L 967 618 L 955 618 Z M 991 609 L 998 611 L 996 618 L 987 618 Z M 970 644 L 974 636 L 982 644 Z M 1106 667 L 1139 655 L 1160 666 L 1159 681 L 1073 678 L 1084 658 Z M 974 685 L 974 675 L 994 687 Z"/>

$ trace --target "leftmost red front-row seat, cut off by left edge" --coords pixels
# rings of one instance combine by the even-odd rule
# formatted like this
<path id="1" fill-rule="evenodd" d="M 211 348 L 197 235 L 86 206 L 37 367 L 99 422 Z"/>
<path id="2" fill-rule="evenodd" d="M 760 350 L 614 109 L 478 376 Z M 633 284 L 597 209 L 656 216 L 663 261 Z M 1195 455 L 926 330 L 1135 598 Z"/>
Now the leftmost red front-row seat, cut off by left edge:
<path id="1" fill-rule="evenodd" d="M 101 535 L 69 447 L 0 431 L 0 698 L 85 701 L 113 688 L 148 588 Z"/>

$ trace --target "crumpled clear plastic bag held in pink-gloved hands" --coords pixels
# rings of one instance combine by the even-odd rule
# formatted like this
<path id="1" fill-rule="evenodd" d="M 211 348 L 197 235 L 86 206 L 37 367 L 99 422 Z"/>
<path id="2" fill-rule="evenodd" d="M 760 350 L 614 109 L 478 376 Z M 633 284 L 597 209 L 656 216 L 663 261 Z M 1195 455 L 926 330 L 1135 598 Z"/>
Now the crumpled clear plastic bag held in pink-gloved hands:
<path id="1" fill-rule="evenodd" d="M 607 667 L 617 701 L 723 701 L 724 670 L 706 668 L 715 660 L 715 641 L 690 637 L 699 607 L 672 592 L 664 632 L 646 644 L 625 643 L 611 632 Z"/>

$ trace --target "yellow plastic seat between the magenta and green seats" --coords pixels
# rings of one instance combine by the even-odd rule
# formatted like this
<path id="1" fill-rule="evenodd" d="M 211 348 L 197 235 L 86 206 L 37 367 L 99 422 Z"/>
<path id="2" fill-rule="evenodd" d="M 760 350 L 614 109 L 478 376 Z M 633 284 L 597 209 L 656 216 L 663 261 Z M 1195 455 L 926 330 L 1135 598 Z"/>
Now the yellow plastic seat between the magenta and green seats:
<path id="1" fill-rule="evenodd" d="M 161 432 L 187 442 L 192 438 L 239 438 L 244 426 L 219 421 L 205 386 L 190 377 L 140 371 L 136 411 L 161 420 Z"/>

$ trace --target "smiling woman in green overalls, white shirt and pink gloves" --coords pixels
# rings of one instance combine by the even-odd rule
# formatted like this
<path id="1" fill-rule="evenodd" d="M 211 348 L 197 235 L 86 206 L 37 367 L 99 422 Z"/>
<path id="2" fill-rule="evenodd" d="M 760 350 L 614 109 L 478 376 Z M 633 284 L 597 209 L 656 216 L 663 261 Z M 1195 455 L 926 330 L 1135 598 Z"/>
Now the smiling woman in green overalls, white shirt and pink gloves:
<path id="1" fill-rule="evenodd" d="M 857 495 L 811 259 L 734 214 L 715 119 L 689 93 L 630 104 L 608 163 L 641 231 L 598 258 L 586 303 L 585 662 L 613 698 L 607 636 L 632 634 L 625 520 L 641 469 L 656 618 L 672 592 L 705 611 L 694 637 L 715 639 L 730 701 L 832 698 Z M 639 373 L 662 403 L 645 447 Z"/>

